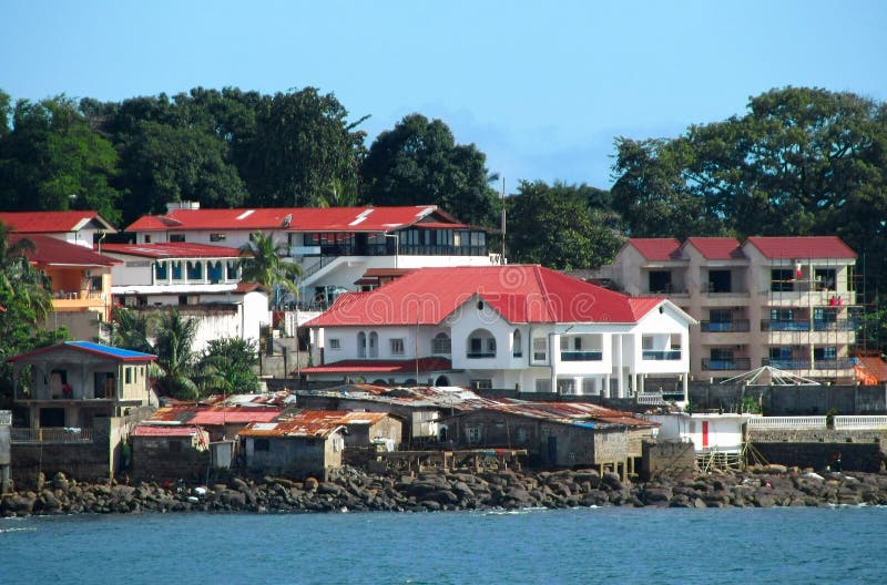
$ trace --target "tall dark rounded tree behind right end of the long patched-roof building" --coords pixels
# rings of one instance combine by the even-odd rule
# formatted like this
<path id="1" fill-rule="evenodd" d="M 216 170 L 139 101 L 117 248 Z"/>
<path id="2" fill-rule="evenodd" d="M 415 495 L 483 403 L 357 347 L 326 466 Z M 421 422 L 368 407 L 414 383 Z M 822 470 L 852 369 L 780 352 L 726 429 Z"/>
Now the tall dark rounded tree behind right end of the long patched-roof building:
<path id="1" fill-rule="evenodd" d="M 479 225 L 495 225 L 499 209 L 486 155 L 456 144 L 440 120 L 410 114 L 383 132 L 360 167 L 363 198 L 374 205 L 434 204 Z"/>

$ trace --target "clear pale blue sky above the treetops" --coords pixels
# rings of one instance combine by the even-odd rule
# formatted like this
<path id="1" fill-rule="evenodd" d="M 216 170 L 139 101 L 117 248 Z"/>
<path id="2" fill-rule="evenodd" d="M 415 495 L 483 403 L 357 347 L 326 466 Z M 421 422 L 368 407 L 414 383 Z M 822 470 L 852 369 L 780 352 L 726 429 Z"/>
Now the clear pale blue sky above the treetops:
<path id="1" fill-rule="evenodd" d="M 0 0 L 0 89 L 122 101 L 333 93 L 368 145 L 442 120 L 511 193 L 612 185 L 613 141 L 675 137 L 773 88 L 887 100 L 887 2 Z"/>

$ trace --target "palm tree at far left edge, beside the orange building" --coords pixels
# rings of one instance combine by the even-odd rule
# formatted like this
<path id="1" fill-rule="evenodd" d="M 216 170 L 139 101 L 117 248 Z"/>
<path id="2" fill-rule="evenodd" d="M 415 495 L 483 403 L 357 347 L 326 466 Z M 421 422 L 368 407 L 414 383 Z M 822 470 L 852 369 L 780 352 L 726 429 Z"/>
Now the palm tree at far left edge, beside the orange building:
<path id="1" fill-rule="evenodd" d="M 0 223 L 0 292 L 19 297 L 30 306 L 34 325 L 52 311 L 47 275 L 28 260 L 27 254 L 35 249 L 28 238 L 12 238 L 9 227 Z"/>

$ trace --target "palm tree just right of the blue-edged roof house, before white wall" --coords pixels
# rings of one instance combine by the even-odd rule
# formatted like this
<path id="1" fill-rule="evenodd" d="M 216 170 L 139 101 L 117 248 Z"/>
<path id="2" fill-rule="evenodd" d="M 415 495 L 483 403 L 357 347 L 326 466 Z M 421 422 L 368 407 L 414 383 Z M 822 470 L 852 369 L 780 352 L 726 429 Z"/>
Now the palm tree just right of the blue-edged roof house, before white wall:
<path id="1" fill-rule="evenodd" d="M 194 337 L 197 320 L 182 317 L 179 309 L 163 312 L 156 326 L 154 352 L 162 373 L 157 379 L 157 390 L 175 398 L 198 398 L 197 386 L 191 379 L 194 374 Z"/>

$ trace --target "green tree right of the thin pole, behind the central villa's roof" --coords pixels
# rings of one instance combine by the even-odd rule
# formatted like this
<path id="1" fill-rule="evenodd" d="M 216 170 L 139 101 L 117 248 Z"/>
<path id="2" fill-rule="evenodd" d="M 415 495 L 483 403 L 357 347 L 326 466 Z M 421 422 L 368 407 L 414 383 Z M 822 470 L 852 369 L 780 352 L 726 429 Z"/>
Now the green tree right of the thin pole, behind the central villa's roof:
<path id="1" fill-rule="evenodd" d="M 509 260 L 558 269 L 598 267 L 622 243 L 619 216 L 603 206 L 605 196 L 587 185 L 549 186 L 522 181 L 508 197 Z"/>

